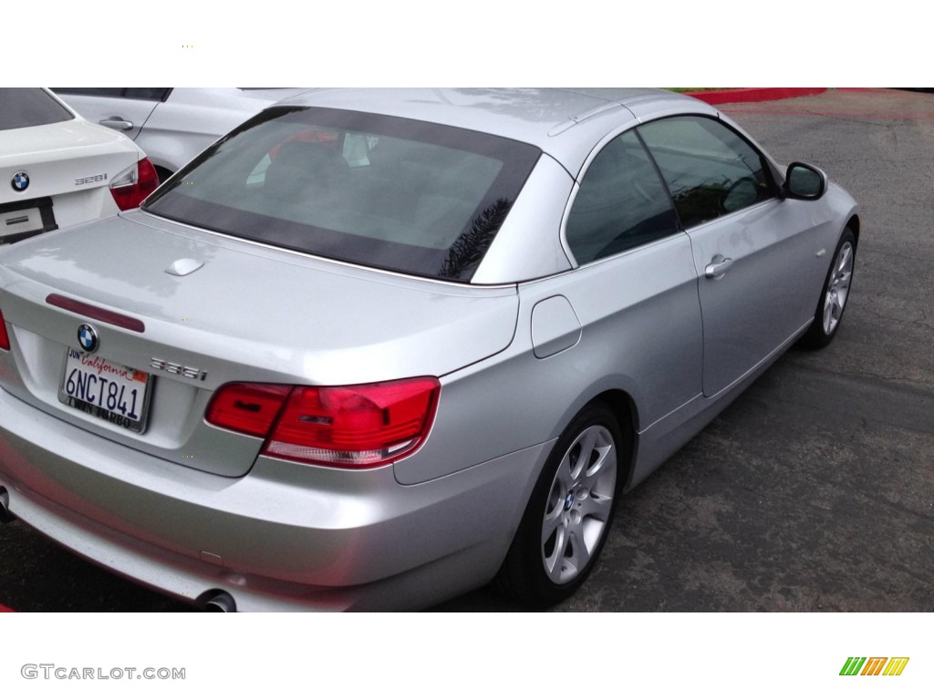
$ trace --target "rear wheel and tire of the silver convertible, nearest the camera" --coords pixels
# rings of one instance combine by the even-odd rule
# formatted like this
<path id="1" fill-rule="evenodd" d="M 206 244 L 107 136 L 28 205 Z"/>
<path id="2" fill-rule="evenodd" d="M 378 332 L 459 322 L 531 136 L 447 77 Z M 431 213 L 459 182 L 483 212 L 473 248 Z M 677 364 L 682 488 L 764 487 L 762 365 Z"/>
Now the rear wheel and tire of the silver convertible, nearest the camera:
<path id="1" fill-rule="evenodd" d="M 630 454 L 602 403 L 588 404 L 561 433 L 532 489 L 497 585 L 531 609 L 551 607 L 587 580 L 606 541 Z"/>

